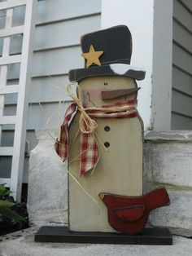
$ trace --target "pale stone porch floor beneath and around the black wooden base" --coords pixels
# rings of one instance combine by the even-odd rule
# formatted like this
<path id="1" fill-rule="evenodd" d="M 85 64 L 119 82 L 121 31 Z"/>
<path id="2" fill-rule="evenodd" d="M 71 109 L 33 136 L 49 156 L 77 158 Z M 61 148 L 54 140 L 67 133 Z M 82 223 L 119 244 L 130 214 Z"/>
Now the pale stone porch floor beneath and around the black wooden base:
<path id="1" fill-rule="evenodd" d="M 192 239 L 173 236 L 173 245 L 85 245 L 34 242 L 39 227 L 0 236 L 0 256 L 89 256 L 89 255 L 185 255 L 190 256 Z"/>

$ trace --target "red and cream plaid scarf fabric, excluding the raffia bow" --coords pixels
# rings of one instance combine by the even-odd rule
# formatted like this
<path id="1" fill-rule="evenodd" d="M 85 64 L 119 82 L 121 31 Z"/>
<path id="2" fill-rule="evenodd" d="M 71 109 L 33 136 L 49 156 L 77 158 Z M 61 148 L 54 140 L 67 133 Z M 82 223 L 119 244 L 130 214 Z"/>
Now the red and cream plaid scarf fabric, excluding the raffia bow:
<path id="1" fill-rule="evenodd" d="M 124 107 L 129 106 L 129 111 L 124 112 L 111 112 L 111 107 Z M 100 110 L 94 109 L 89 110 L 89 108 L 85 112 L 92 118 L 131 118 L 137 117 L 137 100 L 129 100 L 123 103 L 116 103 L 113 105 L 103 106 L 104 108 L 108 108 L 107 112 L 102 112 Z M 55 151 L 61 157 L 62 161 L 68 159 L 68 123 L 72 121 L 72 114 L 77 111 L 78 107 L 76 103 L 72 103 L 64 117 L 63 125 L 60 128 L 60 136 L 59 139 L 55 142 Z M 86 126 L 86 125 L 85 125 Z M 99 159 L 98 152 L 98 140 L 95 132 L 91 133 L 83 133 L 81 132 L 80 139 L 80 173 L 81 176 L 85 174 L 88 170 L 94 170 L 97 166 Z"/>

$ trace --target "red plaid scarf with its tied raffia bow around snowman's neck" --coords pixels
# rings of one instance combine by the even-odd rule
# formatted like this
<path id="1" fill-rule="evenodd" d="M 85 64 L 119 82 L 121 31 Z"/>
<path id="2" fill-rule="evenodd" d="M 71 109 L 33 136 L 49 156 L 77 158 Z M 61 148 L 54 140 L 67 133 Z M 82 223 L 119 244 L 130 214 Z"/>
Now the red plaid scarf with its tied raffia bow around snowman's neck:
<path id="1" fill-rule="evenodd" d="M 76 94 L 74 94 L 72 91 L 72 85 L 76 86 Z M 65 113 L 63 125 L 60 128 L 59 138 L 55 143 L 55 150 L 63 161 L 68 159 L 68 124 L 70 121 L 72 121 L 72 118 L 74 117 L 73 113 L 76 112 L 77 108 L 78 112 L 80 113 L 80 153 L 77 157 L 75 157 L 75 159 L 80 161 L 80 173 L 81 175 L 84 175 L 88 170 L 94 171 L 98 164 L 98 142 L 101 143 L 105 151 L 108 151 L 96 133 L 98 125 L 94 119 L 137 117 L 137 100 L 133 99 L 127 102 L 117 102 L 116 104 L 103 106 L 101 108 L 84 108 L 78 83 L 72 82 L 69 84 L 67 91 L 68 95 L 74 100 L 74 102 L 68 106 Z M 76 137 L 77 135 L 75 135 L 75 138 Z M 74 139 L 73 143 L 75 140 L 76 139 Z M 74 160 L 71 160 L 69 165 L 72 163 L 72 161 Z"/>

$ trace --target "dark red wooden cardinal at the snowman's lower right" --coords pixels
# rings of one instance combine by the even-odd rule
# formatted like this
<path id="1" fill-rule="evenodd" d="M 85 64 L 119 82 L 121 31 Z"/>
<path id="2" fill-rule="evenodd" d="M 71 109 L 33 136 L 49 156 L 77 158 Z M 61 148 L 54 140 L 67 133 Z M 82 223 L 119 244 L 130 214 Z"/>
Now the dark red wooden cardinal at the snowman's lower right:
<path id="1" fill-rule="evenodd" d="M 108 222 L 116 231 L 127 234 L 142 232 L 151 210 L 170 204 L 166 188 L 156 188 L 142 196 L 118 196 L 101 192 L 98 196 L 108 210 Z"/>

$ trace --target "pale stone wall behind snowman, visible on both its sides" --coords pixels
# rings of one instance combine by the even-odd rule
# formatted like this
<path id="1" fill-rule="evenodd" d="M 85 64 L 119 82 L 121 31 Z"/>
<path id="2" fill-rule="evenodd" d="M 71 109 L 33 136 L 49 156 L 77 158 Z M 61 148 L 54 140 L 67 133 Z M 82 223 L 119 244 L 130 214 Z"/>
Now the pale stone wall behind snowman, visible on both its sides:
<path id="1" fill-rule="evenodd" d="M 67 223 L 66 165 L 55 153 L 56 130 L 38 130 L 31 152 L 28 213 L 31 222 Z M 165 186 L 171 205 L 151 212 L 149 224 L 192 236 L 192 132 L 149 131 L 144 143 L 144 192 Z"/>

